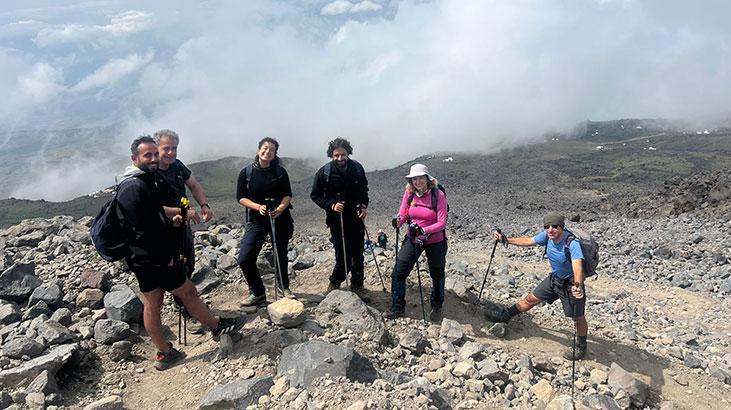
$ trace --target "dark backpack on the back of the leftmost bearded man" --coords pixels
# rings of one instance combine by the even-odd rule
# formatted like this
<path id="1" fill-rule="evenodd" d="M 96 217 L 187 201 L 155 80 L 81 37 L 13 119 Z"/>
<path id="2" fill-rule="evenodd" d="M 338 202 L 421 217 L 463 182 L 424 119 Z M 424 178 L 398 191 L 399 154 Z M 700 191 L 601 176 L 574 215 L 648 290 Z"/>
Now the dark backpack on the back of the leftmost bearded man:
<path id="1" fill-rule="evenodd" d="M 104 260 L 116 262 L 129 256 L 129 229 L 124 215 L 117 205 L 117 192 L 94 218 L 91 225 L 91 242 Z"/>

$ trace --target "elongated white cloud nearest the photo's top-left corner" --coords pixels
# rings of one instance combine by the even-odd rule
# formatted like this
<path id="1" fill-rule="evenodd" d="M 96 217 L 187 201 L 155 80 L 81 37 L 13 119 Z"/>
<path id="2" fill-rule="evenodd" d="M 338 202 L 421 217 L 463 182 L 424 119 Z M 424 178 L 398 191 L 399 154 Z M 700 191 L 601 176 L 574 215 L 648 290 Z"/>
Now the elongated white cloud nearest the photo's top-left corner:
<path id="1" fill-rule="evenodd" d="M 109 24 L 84 25 L 61 24 L 47 27 L 38 32 L 34 42 L 40 47 L 64 43 L 79 43 L 99 40 L 99 36 L 121 37 L 147 30 L 152 24 L 152 14 L 129 10 L 112 16 Z"/>

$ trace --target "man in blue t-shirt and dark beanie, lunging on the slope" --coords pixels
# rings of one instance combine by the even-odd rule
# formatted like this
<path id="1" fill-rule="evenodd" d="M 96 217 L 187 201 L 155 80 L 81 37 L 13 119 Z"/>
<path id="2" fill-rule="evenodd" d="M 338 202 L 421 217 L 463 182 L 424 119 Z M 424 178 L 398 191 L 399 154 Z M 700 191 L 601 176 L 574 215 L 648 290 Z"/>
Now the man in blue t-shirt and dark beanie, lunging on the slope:
<path id="1" fill-rule="evenodd" d="M 586 297 L 584 290 L 584 254 L 578 240 L 566 242 L 568 234 L 564 230 L 563 215 L 549 212 L 543 217 L 544 231 L 534 237 L 508 238 L 500 232 L 495 232 L 495 240 L 504 241 L 517 246 L 545 246 L 548 262 L 551 264 L 551 274 L 546 277 L 528 296 L 509 308 L 498 307 L 488 309 L 486 316 L 493 322 L 507 323 L 514 316 L 527 312 L 541 302 L 553 303 L 561 299 L 566 317 L 574 319 L 578 344 L 576 359 L 586 356 L 586 335 L 589 326 L 584 316 Z M 569 349 L 564 357 L 572 359 L 573 349 Z"/>

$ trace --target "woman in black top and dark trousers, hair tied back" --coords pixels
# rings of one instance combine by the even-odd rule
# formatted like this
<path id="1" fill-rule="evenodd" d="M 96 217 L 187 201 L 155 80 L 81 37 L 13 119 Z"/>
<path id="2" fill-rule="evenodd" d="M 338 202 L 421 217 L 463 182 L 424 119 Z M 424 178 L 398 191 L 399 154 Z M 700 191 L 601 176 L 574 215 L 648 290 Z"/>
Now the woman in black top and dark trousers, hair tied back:
<path id="1" fill-rule="evenodd" d="M 244 306 L 259 305 L 266 302 L 266 290 L 261 280 L 256 259 L 261 247 L 270 235 L 270 216 L 274 218 L 274 231 L 277 238 L 277 253 L 282 278 L 275 280 L 285 297 L 294 298 L 289 290 L 287 272 L 287 245 L 292 238 L 294 225 L 289 212 L 292 200 L 292 187 L 287 171 L 279 165 L 277 150 L 279 143 L 273 138 L 259 141 L 254 163 L 239 172 L 236 186 L 236 199 L 246 207 L 246 233 L 241 240 L 238 263 L 249 284 L 249 297 Z M 267 211 L 266 200 L 273 199 L 275 208 Z M 276 272 L 275 272 L 276 276 Z"/>

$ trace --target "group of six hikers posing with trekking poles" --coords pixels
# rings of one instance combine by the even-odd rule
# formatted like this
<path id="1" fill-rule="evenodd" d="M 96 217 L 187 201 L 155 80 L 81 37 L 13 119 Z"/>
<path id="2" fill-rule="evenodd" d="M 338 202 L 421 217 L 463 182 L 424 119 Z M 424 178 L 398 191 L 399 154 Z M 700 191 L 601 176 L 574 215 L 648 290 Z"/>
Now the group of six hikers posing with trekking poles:
<path id="1" fill-rule="evenodd" d="M 115 197 L 101 210 L 92 226 L 92 239 L 99 253 L 107 260 L 124 258 L 137 278 L 143 294 L 144 326 L 158 351 L 155 357 L 158 370 L 184 357 L 163 334 L 161 309 L 166 291 L 173 294 L 181 310 L 200 323 L 199 328 L 209 329 L 214 338 L 238 332 L 245 322 L 241 316 L 215 317 L 191 282 L 195 252 L 190 223 L 207 222 L 214 212 L 201 184 L 177 159 L 179 142 L 178 134 L 171 130 L 135 139 L 131 146 L 132 165 L 118 177 Z M 266 288 L 257 267 L 259 253 L 267 241 L 274 256 L 274 297 L 297 297 L 290 289 L 287 266 L 287 249 L 294 232 L 290 212 L 292 187 L 278 151 L 279 143 L 275 139 L 267 137 L 259 141 L 253 163 L 241 170 L 236 184 L 236 200 L 246 214 L 237 263 L 249 287 L 248 296 L 241 302 L 247 307 L 267 302 Z M 335 252 L 327 292 L 342 288 L 348 281 L 349 290 L 368 301 L 364 292 L 364 250 L 374 252 L 375 246 L 365 224 L 368 180 L 363 166 L 350 157 L 353 147 L 348 140 L 335 138 L 328 143 L 326 152 L 330 161 L 316 172 L 310 198 L 325 211 L 325 224 Z M 384 317 L 395 319 L 406 314 L 406 279 L 416 265 L 421 315 L 426 320 L 420 266 L 420 257 L 425 254 L 432 283 L 428 317 L 438 321 L 445 300 L 447 196 L 424 164 L 411 166 L 405 179 L 400 206 L 391 221 L 396 231 L 396 261 L 391 273 L 391 306 Z M 200 213 L 190 207 L 186 188 L 199 204 Z M 588 329 L 584 316 L 584 280 L 587 270 L 593 273 L 596 267 L 595 263 L 589 263 L 593 261 L 587 260 L 595 259 L 596 244 L 592 240 L 593 249 L 585 246 L 589 240 L 567 230 L 560 214 L 549 213 L 543 224 L 544 230 L 534 237 L 508 238 L 500 230 L 495 232 L 492 255 L 498 243 L 545 246 L 551 273 L 513 306 L 488 303 L 485 314 L 491 321 L 507 323 L 541 302 L 560 299 L 565 315 L 575 321 L 578 336 L 578 346 L 575 343 L 566 357 L 582 358 L 586 355 Z M 387 246 L 388 239 L 382 230 L 378 230 L 374 239 L 378 246 Z M 592 252 L 591 258 L 585 257 L 587 251 Z M 373 259 L 386 291 L 375 254 Z M 481 293 L 482 290 L 480 296 Z"/>

